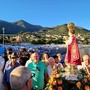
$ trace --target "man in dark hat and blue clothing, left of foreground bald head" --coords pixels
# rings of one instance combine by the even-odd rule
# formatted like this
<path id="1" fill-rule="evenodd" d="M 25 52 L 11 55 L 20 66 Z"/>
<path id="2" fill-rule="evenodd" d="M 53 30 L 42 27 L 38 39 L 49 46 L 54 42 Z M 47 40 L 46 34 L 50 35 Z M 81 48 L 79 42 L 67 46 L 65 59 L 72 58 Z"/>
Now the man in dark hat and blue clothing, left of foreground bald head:
<path id="1" fill-rule="evenodd" d="M 11 60 L 5 68 L 5 73 L 3 77 L 4 90 L 11 90 L 10 87 L 10 73 L 13 69 L 20 66 L 20 63 L 17 62 L 18 55 L 16 52 L 11 54 Z"/>

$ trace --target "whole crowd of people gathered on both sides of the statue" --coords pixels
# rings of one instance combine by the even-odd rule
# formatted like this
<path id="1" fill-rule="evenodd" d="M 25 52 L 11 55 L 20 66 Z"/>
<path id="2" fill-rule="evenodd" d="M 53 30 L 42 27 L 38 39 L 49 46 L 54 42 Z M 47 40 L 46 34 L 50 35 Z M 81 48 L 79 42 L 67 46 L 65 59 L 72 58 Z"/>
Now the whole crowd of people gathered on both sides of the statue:
<path id="1" fill-rule="evenodd" d="M 7 48 L 5 56 L 0 56 L 0 90 L 43 90 L 52 71 L 64 68 L 60 53 L 50 56 L 44 52 L 42 58 L 39 53 L 27 53 L 25 48 L 14 52 Z M 90 56 L 85 54 L 78 69 L 90 73 Z"/>

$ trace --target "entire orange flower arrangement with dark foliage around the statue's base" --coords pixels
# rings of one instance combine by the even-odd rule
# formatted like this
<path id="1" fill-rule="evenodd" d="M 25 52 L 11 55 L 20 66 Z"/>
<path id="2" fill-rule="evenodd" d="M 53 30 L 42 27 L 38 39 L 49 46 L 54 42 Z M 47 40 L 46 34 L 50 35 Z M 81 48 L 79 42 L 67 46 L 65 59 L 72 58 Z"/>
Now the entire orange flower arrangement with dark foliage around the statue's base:
<path id="1" fill-rule="evenodd" d="M 84 70 L 78 72 L 82 78 L 71 81 L 62 76 L 61 69 L 53 70 L 44 90 L 90 90 L 90 74 L 87 75 Z"/>

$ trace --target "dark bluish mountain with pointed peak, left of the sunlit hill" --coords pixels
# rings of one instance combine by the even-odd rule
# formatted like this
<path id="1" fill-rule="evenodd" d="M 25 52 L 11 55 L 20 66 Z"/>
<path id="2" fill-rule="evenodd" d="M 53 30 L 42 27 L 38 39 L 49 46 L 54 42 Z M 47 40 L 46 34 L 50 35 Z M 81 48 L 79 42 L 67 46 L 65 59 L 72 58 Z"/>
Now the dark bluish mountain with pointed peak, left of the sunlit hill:
<path id="1" fill-rule="evenodd" d="M 42 29 L 42 26 L 32 25 L 23 20 L 16 22 L 7 22 L 0 20 L 0 34 L 3 33 L 2 28 L 5 28 L 5 34 L 17 34 L 19 32 L 34 32 Z"/>

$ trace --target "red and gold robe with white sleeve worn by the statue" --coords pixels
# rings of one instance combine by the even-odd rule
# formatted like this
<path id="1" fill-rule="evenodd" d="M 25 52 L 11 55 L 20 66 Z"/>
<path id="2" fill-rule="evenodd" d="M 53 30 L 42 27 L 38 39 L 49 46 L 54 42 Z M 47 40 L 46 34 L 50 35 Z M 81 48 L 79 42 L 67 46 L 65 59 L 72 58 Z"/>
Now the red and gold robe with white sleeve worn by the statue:
<path id="1" fill-rule="evenodd" d="M 72 65 L 81 65 L 80 53 L 75 35 L 71 35 L 66 44 L 67 52 L 65 56 L 65 61 Z"/>

